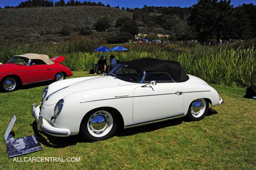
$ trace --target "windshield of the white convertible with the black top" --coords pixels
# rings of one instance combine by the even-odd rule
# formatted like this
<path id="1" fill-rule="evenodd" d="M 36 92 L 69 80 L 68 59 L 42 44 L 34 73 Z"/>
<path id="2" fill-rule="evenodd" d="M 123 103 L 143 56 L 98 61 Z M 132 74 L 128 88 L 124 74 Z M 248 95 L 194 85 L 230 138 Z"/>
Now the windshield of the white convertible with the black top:
<path id="1" fill-rule="evenodd" d="M 143 77 L 143 70 L 127 64 L 118 64 L 108 75 L 124 81 L 140 83 Z"/>

